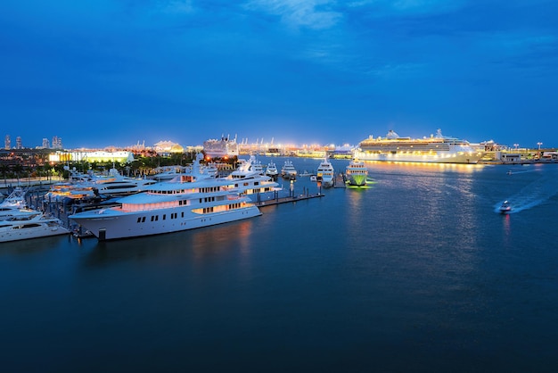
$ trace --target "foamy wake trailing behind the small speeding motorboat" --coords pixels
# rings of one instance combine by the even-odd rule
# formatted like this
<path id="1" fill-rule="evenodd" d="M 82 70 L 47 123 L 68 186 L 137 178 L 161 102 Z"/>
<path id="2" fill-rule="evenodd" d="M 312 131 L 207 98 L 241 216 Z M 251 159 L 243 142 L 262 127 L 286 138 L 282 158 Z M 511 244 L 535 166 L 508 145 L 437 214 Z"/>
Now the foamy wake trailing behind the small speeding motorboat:
<path id="1" fill-rule="evenodd" d="M 554 195 L 558 195 L 556 180 L 552 180 L 550 178 L 541 178 L 530 183 L 528 186 L 521 188 L 521 190 L 515 195 L 507 196 L 505 200 L 510 202 L 512 210 L 507 211 L 506 213 L 516 213 L 531 209 L 542 203 L 546 203 L 546 201 L 554 197 Z M 505 200 L 494 204 L 495 212 L 501 212 L 500 207 Z"/>

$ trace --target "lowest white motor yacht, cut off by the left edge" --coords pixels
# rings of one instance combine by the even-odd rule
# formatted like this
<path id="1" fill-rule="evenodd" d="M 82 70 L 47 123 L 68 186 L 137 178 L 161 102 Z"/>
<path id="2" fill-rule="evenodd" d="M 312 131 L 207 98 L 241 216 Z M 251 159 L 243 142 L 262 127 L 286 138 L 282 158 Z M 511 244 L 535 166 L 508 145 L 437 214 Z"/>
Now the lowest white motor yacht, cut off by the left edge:
<path id="1" fill-rule="evenodd" d="M 60 220 L 47 218 L 40 211 L 0 220 L 0 242 L 59 236 L 69 233 L 70 230 L 64 228 Z"/>

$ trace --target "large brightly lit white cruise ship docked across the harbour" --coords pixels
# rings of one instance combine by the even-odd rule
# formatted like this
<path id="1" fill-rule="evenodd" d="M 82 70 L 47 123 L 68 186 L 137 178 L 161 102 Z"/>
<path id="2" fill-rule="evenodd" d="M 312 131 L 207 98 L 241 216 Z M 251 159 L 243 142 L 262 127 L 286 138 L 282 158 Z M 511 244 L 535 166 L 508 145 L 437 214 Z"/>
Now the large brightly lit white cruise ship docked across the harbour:
<path id="1" fill-rule="evenodd" d="M 477 163 L 483 153 L 465 140 L 442 136 L 414 138 L 399 137 L 390 130 L 386 137 L 368 137 L 358 144 L 353 158 L 361 161 Z"/>

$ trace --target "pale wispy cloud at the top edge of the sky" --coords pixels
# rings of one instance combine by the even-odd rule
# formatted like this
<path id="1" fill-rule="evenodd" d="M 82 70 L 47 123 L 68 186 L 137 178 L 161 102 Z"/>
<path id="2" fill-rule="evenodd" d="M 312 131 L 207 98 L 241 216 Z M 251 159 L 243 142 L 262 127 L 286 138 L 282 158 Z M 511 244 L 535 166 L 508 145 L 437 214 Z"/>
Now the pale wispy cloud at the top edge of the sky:
<path id="1" fill-rule="evenodd" d="M 278 16 L 295 29 L 329 29 L 343 17 L 332 10 L 333 4 L 331 0 L 251 0 L 245 8 Z"/>

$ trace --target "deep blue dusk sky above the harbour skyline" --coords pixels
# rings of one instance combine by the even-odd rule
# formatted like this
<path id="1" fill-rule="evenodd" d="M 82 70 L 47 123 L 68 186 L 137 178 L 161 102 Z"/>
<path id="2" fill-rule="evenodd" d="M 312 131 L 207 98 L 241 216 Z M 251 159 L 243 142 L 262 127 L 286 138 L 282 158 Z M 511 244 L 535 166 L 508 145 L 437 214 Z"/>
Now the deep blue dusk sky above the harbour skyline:
<path id="1" fill-rule="evenodd" d="M 5 0 L 0 48 L 12 145 L 558 146 L 555 0 Z"/>

